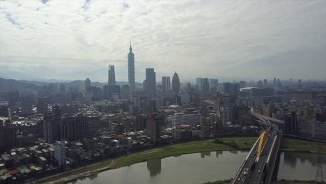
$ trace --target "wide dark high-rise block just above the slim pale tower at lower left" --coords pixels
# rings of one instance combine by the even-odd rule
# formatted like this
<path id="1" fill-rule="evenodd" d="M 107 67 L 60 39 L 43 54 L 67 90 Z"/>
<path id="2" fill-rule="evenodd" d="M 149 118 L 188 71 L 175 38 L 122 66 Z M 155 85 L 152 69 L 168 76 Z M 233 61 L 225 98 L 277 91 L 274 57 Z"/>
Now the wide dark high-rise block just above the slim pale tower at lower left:
<path id="1" fill-rule="evenodd" d="M 89 121 L 88 116 L 75 114 L 72 116 L 63 116 L 61 119 L 62 125 L 65 127 L 63 133 L 66 139 L 70 141 L 78 141 L 88 137 Z"/>

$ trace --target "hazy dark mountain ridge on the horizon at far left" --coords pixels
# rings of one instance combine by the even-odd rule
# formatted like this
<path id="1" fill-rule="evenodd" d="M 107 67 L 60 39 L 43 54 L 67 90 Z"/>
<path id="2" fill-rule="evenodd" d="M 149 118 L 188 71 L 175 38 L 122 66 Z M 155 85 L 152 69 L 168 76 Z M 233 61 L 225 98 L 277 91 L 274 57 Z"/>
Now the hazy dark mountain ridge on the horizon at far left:
<path id="1" fill-rule="evenodd" d="M 20 90 L 33 90 L 36 91 L 40 89 L 40 86 L 37 86 L 36 84 L 26 83 L 17 81 L 15 79 L 3 79 L 0 78 L 0 91 L 20 91 Z"/>

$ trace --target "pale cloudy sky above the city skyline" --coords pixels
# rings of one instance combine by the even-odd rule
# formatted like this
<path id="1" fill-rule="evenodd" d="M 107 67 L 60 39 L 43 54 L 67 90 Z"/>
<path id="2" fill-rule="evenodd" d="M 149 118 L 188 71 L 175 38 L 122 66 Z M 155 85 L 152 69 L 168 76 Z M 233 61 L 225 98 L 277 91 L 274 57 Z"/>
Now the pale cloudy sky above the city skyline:
<path id="1" fill-rule="evenodd" d="M 325 0 L 0 1 L 0 77 L 326 79 Z"/>

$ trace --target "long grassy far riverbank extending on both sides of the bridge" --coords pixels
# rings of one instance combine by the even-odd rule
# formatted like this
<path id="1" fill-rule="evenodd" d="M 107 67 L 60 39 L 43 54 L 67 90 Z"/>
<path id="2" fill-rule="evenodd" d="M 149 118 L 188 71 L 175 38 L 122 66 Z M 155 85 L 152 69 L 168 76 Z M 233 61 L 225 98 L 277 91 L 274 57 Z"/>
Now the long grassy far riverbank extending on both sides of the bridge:
<path id="1" fill-rule="evenodd" d="M 65 174 L 59 174 L 58 176 L 49 177 L 46 180 L 43 179 L 40 183 L 66 183 L 77 178 L 98 174 L 100 171 L 105 171 L 107 169 L 116 169 L 138 162 L 166 158 L 173 155 L 184 155 L 189 153 L 210 151 L 249 151 L 249 149 L 254 145 L 256 139 L 257 137 L 229 137 L 219 139 L 219 141 L 223 142 L 222 144 L 215 143 L 213 140 L 193 141 L 185 144 L 174 144 L 171 146 L 155 148 L 141 153 L 125 155 L 121 158 L 118 158 L 114 164 L 111 164 L 111 160 L 106 160 L 99 164 L 93 164 L 83 169 L 76 169 Z M 317 153 L 319 147 L 322 148 L 321 150 L 323 153 L 326 153 L 326 144 L 285 138 L 282 141 L 280 151 Z"/>

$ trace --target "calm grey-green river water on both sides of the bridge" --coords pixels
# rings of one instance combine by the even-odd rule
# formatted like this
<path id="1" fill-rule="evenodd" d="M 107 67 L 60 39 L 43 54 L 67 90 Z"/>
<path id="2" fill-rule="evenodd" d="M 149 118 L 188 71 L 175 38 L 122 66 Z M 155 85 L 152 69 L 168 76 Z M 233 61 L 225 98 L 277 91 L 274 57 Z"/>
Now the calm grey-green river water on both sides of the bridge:
<path id="1" fill-rule="evenodd" d="M 98 175 L 82 178 L 72 183 L 199 184 L 233 178 L 246 156 L 247 152 L 243 151 L 213 151 L 178 155 L 103 171 Z M 323 160 L 326 160 L 326 155 L 323 155 Z M 281 152 L 278 178 L 313 180 L 316 178 L 317 162 L 318 155 L 315 154 Z M 323 168 L 325 168 L 323 175 L 326 176 L 325 164 Z"/>

